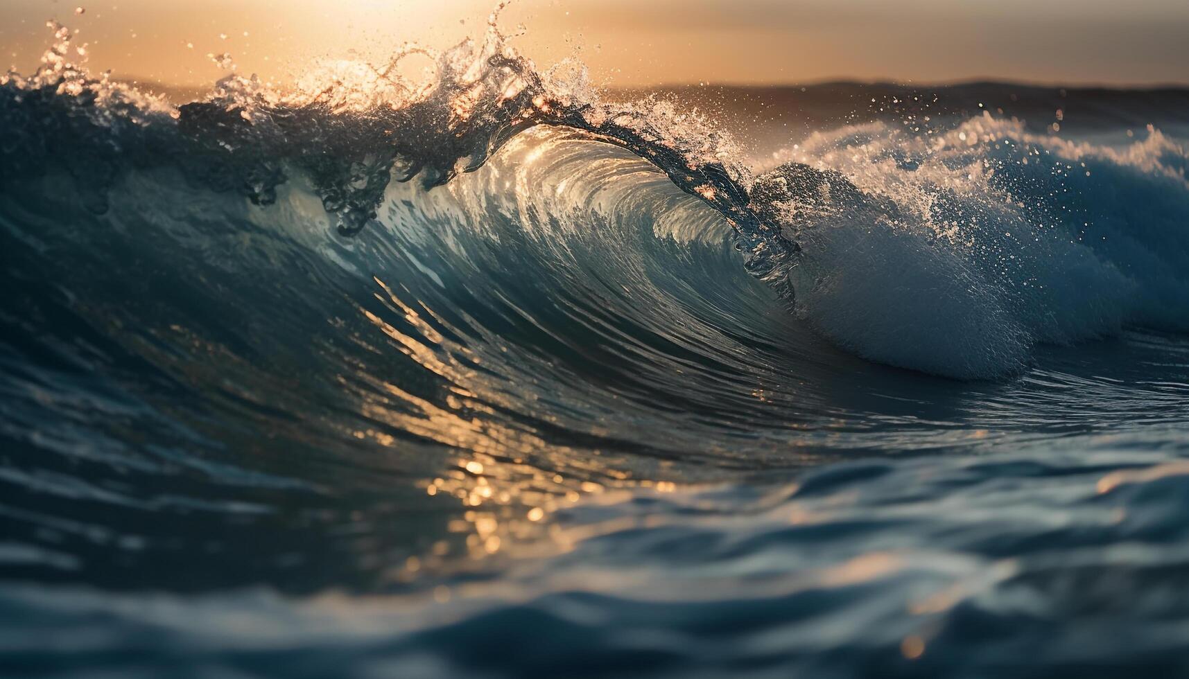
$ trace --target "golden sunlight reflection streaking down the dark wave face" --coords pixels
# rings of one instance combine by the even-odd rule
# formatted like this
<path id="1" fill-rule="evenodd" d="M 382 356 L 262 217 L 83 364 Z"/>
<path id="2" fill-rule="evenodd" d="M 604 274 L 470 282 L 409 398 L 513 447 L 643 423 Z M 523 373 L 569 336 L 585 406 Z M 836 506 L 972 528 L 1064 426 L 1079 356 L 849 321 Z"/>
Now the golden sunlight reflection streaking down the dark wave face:
<path id="1" fill-rule="evenodd" d="M 416 360 L 424 370 L 449 382 L 452 394 L 442 408 L 420 398 L 388 382 L 370 384 L 360 392 L 363 414 L 386 427 L 409 432 L 466 453 L 454 466 L 424 484 L 428 496 L 452 497 L 466 511 L 463 518 L 452 521 L 449 533 L 459 535 L 470 559 L 484 559 L 509 549 L 540 551 L 547 546 L 567 549 L 575 535 L 559 532 L 547 526 L 545 520 L 559 508 L 572 505 L 584 497 L 615 497 L 599 483 L 570 478 L 558 472 L 545 472 L 528 460 L 545 455 L 551 459 L 551 469 L 577 469 L 598 473 L 604 478 L 619 479 L 625 485 L 650 488 L 658 492 L 673 492 L 672 482 L 631 482 L 628 474 L 605 469 L 598 458 L 590 458 L 580 451 L 552 445 L 529 430 L 516 429 L 483 417 L 493 413 L 491 405 L 480 400 L 498 401 L 501 396 L 484 388 L 483 373 L 466 366 L 452 354 L 440 351 L 449 340 L 421 318 L 421 313 L 401 300 L 400 295 L 380 278 L 373 278 L 379 288 L 376 298 L 398 313 L 424 340 L 401 332 L 378 315 L 360 308 L 360 313 L 384 333 L 405 356 Z M 440 319 L 438 319 L 440 321 Z M 461 346 L 454 352 L 468 356 Z M 477 357 L 472 357 L 477 360 Z M 369 381 L 366 376 L 363 379 Z M 511 403 L 501 407 L 514 408 Z M 366 439 L 383 446 L 400 446 L 392 436 L 379 428 L 353 432 L 358 439 Z M 541 541 L 542 530 L 548 540 Z M 439 562 L 451 552 L 446 542 L 438 543 L 429 554 L 407 561 L 396 573 L 398 578 L 411 578 L 422 567 Z"/>

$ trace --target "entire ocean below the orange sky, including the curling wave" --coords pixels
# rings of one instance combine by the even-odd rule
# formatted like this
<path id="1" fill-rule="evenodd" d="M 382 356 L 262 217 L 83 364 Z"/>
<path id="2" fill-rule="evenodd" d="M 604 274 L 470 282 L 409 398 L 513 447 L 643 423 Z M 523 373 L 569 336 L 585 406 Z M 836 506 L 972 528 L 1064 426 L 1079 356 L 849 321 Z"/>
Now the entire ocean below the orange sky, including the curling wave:
<path id="1" fill-rule="evenodd" d="M 492 23 L 166 101 L 54 30 L 0 677 L 1189 675 L 1184 90 L 609 96 Z"/>

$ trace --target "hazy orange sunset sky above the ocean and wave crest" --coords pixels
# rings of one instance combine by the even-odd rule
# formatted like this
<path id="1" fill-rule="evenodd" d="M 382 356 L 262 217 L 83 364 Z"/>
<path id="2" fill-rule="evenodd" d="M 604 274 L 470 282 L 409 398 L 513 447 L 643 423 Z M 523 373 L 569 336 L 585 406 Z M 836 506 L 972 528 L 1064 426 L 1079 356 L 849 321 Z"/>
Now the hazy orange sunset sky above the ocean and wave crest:
<path id="1" fill-rule="evenodd" d="M 96 71 L 203 86 L 221 75 L 207 55 L 229 52 L 284 82 L 317 59 L 452 45 L 495 2 L 0 0 L 0 57 L 30 73 L 54 18 L 81 30 Z M 577 54 L 600 86 L 1189 84 L 1189 0 L 516 0 L 501 26 L 518 24 L 512 44 L 539 67 Z"/>

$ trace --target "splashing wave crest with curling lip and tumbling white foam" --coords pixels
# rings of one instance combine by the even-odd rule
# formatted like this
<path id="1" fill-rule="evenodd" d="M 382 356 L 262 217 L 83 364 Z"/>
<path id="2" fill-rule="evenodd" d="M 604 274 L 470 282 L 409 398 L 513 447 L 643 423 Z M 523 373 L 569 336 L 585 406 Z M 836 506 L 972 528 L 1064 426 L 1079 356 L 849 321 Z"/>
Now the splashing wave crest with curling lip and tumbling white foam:
<path id="1" fill-rule="evenodd" d="M 1189 323 L 1187 152 L 1156 130 L 1119 150 L 989 113 L 911 117 L 816 133 L 756 183 L 710 121 L 662 101 L 599 103 L 580 68 L 537 74 L 495 26 L 482 45 L 433 55 L 436 80 L 420 88 L 391 75 L 424 54 L 405 48 L 384 69 L 336 64 L 287 92 L 233 73 L 178 108 L 90 80 L 56 27 L 48 65 L 4 86 L 0 181 L 64 169 L 102 213 L 128 169 L 180 169 L 258 205 L 300 175 L 350 235 L 377 219 L 392 181 L 446 184 L 523 131 L 558 126 L 629 150 L 707 203 L 748 270 L 872 360 L 996 378 L 1039 342 Z"/>

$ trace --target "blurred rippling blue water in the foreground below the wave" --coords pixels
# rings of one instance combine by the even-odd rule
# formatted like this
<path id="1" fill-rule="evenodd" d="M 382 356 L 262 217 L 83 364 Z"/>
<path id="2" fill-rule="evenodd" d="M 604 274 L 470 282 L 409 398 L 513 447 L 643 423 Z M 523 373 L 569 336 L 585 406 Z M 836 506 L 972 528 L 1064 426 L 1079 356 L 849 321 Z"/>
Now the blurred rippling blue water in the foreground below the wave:
<path id="1" fill-rule="evenodd" d="M 643 490 L 561 511 L 564 554 L 411 593 L 12 586 L 0 591 L 0 668 L 1178 674 L 1176 621 L 1189 610 L 1170 592 L 1189 559 L 1184 453 L 1150 435 L 1077 439 L 995 458 L 835 465 L 778 486 Z"/>

